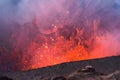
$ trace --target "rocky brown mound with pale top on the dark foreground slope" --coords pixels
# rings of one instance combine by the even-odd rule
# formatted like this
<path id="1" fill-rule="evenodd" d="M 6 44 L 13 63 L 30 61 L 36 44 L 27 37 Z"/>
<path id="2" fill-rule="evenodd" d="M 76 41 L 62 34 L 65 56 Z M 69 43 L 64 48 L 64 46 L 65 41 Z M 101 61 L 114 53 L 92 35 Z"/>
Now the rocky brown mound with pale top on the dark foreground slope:
<path id="1" fill-rule="evenodd" d="M 68 80 L 101 80 L 101 76 L 103 74 L 96 72 L 95 68 L 89 65 L 70 74 Z"/>

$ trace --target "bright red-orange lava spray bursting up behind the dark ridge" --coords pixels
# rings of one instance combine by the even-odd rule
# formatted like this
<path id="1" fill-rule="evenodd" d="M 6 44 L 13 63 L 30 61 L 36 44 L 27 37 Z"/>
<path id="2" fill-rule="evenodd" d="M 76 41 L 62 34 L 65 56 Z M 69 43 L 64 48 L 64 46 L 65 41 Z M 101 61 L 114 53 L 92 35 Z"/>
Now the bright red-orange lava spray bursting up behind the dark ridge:
<path id="1" fill-rule="evenodd" d="M 53 29 L 41 33 L 38 29 L 38 22 L 27 24 L 29 30 L 27 33 L 20 33 L 21 36 L 29 34 L 32 39 L 23 52 L 21 59 L 21 70 L 35 69 L 50 65 L 56 65 L 63 62 L 87 60 L 93 58 L 105 57 L 108 55 L 100 54 L 101 49 L 97 44 L 102 38 L 97 36 L 98 20 L 93 21 L 93 28 L 90 34 L 85 34 L 85 29 L 77 25 L 67 25 L 63 27 L 53 26 Z M 87 23 L 89 25 L 89 23 Z M 31 26 L 31 27 L 30 27 Z M 23 35 L 22 35 L 23 34 Z M 20 38 L 20 37 L 19 37 Z M 22 37 L 23 38 L 23 37 Z M 86 39 L 85 39 L 86 38 Z M 17 40 L 20 47 L 21 38 Z M 23 50 L 24 48 L 22 48 Z M 16 50 L 16 49 L 15 49 Z M 19 48 L 18 48 L 19 51 Z M 93 54 L 91 54 L 93 52 Z M 101 50 L 102 52 L 102 50 Z M 25 54 L 25 55 L 24 55 Z"/>

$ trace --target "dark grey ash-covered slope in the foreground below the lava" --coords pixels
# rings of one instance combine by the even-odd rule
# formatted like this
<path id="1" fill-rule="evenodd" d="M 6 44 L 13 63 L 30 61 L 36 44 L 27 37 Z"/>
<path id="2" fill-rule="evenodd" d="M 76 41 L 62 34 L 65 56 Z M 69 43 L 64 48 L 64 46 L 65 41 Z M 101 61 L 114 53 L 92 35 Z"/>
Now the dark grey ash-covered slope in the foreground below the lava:
<path id="1" fill-rule="evenodd" d="M 0 80 L 120 80 L 119 61 L 120 56 L 115 56 L 29 71 L 0 72 Z"/>

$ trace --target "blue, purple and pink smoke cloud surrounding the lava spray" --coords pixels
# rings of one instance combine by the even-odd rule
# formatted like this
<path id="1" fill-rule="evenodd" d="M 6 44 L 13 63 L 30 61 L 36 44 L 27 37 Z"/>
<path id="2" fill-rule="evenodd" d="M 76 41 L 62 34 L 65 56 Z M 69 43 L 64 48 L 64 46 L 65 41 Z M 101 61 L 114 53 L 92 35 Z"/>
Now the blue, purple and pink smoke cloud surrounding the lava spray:
<path id="1" fill-rule="evenodd" d="M 87 45 L 89 58 L 120 55 L 120 0 L 0 0 L 1 70 L 21 69 L 22 61 L 32 64 L 28 45 L 36 34 L 29 23 L 34 21 L 44 35 L 54 26 L 84 29 L 87 39 L 95 37 Z"/>

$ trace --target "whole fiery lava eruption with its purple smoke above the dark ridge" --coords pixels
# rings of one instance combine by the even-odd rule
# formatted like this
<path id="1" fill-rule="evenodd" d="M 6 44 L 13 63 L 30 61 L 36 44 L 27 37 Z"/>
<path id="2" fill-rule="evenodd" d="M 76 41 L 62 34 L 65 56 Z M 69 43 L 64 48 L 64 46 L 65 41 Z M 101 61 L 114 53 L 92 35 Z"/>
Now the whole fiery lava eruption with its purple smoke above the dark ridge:
<path id="1" fill-rule="evenodd" d="M 0 9 L 0 70 L 120 54 L 120 0 L 9 0 Z"/>

